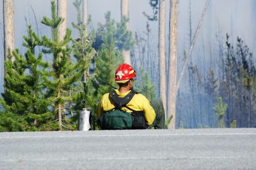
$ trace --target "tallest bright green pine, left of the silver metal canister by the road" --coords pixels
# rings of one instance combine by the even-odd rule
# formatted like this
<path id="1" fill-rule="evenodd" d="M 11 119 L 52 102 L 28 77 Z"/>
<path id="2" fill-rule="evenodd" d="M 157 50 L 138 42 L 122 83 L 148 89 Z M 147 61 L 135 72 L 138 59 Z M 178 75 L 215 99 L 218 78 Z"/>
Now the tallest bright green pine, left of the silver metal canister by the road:
<path id="1" fill-rule="evenodd" d="M 83 59 L 79 59 L 77 63 L 72 63 L 71 49 L 68 47 L 68 43 L 71 42 L 71 31 L 67 29 L 67 33 L 63 40 L 59 40 L 58 27 L 63 22 L 63 19 L 57 17 L 56 4 L 51 1 L 52 19 L 44 17 L 42 24 L 51 27 L 52 36 L 42 37 L 43 52 L 45 54 L 51 54 L 53 56 L 52 69 L 44 76 L 45 86 L 48 88 L 48 95 L 52 97 L 54 102 L 54 111 L 58 115 L 59 130 L 62 127 L 67 129 L 75 129 L 65 113 L 67 113 L 65 104 L 72 101 L 70 96 L 70 90 L 74 87 L 77 81 L 81 80 L 81 77 L 85 70 L 85 64 Z M 76 95 L 76 94 L 74 94 Z M 64 120 L 64 123 L 62 122 Z"/>

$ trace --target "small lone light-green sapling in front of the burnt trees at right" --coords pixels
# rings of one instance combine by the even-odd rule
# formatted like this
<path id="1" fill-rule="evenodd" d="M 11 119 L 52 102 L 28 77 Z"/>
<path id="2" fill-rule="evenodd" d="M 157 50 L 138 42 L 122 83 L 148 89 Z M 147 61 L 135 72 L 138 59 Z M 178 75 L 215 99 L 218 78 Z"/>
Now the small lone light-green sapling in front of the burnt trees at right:
<path id="1" fill-rule="evenodd" d="M 223 105 L 222 98 L 218 97 L 218 103 L 215 105 L 214 111 L 216 112 L 216 117 L 218 118 L 220 128 L 225 128 L 224 116 L 227 107 L 227 104 Z"/>

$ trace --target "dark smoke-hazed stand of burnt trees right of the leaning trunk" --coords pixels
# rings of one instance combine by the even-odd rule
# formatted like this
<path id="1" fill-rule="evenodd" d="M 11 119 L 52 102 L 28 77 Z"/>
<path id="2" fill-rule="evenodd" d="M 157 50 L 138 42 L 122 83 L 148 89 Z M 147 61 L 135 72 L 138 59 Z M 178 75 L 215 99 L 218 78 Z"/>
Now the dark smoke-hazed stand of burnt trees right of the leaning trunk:
<path id="1" fill-rule="evenodd" d="M 195 101 L 202 101 L 202 114 L 196 116 L 193 114 L 186 114 L 186 116 L 189 117 L 191 115 L 193 118 L 189 120 L 190 122 L 188 121 L 184 123 L 186 127 L 195 127 L 192 123 L 196 121 L 196 125 L 202 122 L 203 127 L 207 124 L 209 127 L 216 127 L 215 112 L 211 108 L 218 104 L 217 97 L 221 97 L 223 105 L 227 104 L 227 110 L 223 112 L 225 116 L 221 116 L 221 114 L 216 115 L 218 119 L 223 117 L 221 120 L 218 120 L 219 127 L 225 127 L 225 125 L 230 127 L 235 126 L 235 124 L 236 127 L 239 128 L 255 127 L 255 55 L 252 54 L 248 46 L 239 37 L 237 37 L 234 45 L 230 43 L 229 35 L 227 35 L 225 47 L 222 47 L 221 40 L 219 40 L 219 42 L 220 49 L 218 55 L 215 56 L 215 58 L 218 58 L 218 63 L 216 63 L 216 65 L 214 65 L 215 63 L 213 64 L 214 66 L 218 66 L 218 68 L 209 68 L 209 71 L 205 76 L 205 81 L 202 81 L 204 82 L 204 91 L 201 93 L 203 94 L 203 98 L 197 98 L 197 96 L 200 96 L 200 91 L 198 90 L 197 92 L 195 90 L 201 89 L 200 84 L 191 84 L 193 85 L 191 86 L 191 89 L 193 90 L 191 90 L 189 97 L 196 92 Z M 202 72 L 202 75 L 204 75 L 204 72 Z M 193 77 L 189 76 L 189 78 L 191 79 Z M 186 97 L 187 95 L 180 100 L 180 103 L 182 104 L 184 103 L 184 100 L 188 101 L 183 107 L 186 109 L 185 112 L 188 111 L 188 113 L 191 113 L 191 111 L 194 111 L 197 114 L 201 111 L 201 104 L 196 105 L 193 96 L 188 99 L 186 99 Z M 195 109 L 192 110 L 191 107 L 196 108 L 197 111 L 195 111 Z M 178 117 L 178 119 L 181 118 Z"/>

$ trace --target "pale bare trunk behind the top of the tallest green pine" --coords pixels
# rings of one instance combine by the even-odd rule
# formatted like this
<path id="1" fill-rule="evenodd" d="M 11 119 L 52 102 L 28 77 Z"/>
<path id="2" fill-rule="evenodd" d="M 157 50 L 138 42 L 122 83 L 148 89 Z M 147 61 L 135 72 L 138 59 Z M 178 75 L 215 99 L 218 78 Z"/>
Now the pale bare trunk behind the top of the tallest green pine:
<path id="1" fill-rule="evenodd" d="M 67 0 L 58 0 L 57 15 L 64 19 L 59 27 L 59 40 L 63 40 L 67 32 Z"/>

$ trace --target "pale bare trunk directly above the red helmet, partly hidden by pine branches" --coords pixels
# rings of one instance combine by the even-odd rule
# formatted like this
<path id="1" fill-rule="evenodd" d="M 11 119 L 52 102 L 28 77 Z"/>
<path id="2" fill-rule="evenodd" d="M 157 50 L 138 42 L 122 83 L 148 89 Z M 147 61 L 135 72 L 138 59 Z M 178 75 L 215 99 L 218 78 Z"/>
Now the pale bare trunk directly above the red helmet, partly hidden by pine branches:
<path id="1" fill-rule="evenodd" d="M 129 19 L 129 0 L 121 0 L 121 17 Z M 129 29 L 129 21 L 126 23 Z M 124 62 L 131 65 L 131 52 L 130 50 L 123 50 Z"/>

